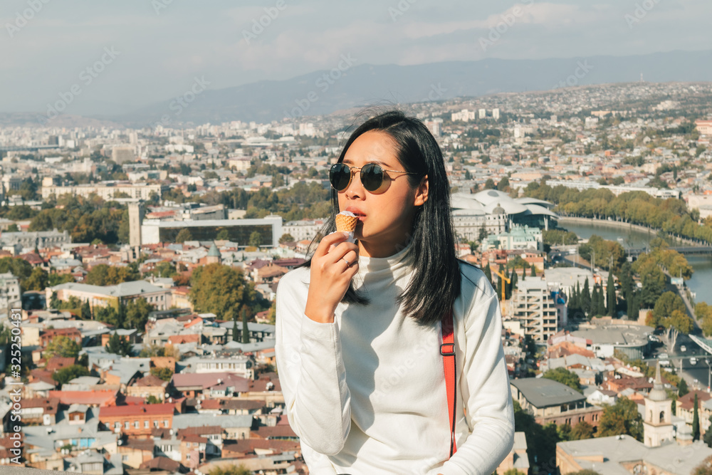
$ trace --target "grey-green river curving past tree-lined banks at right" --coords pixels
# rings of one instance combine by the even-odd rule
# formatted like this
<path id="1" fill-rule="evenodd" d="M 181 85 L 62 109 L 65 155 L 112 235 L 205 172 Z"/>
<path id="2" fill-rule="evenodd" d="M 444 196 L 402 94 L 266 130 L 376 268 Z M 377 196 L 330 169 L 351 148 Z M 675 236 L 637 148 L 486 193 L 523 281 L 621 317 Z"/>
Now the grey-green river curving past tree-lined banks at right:
<path id="1" fill-rule="evenodd" d="M 645 247 L 655 237 L 654 232 L 646 233 L 636 229 L 625 229 L 622 226 L 602 223 L 579 224 L 559 222 L 559 227 L 575 232 L 583 239 L 589 239 L 594 234 L 609 241 L 617 241 L 620 237 L 624 247 Z M 684 246 L 684 244 L 676 244 Z M 686 282 L 691 291 L 696 293 L 696 302 L 704 301 L 712 305 L 712 257 L 689 257 L 688 262 L 695 270 L 692 278 Z"/>

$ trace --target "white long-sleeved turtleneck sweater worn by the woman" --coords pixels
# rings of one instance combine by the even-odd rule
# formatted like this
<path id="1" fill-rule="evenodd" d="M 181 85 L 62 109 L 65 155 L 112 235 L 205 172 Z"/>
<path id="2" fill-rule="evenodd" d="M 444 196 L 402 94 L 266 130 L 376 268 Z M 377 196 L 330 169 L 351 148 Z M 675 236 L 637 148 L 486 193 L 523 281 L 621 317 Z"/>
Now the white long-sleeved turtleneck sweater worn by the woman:
<path id="1" fill-rule="evenodd" d="M 353 279 L 367 306 L 340 303 L 333 323 L 304 314 L 310 269 L 277 289 L 276 358 L 289 423 L 312 474 L 490 475 L 511 451 L 514 417 L 498 299 L 484 274 L 460 264 L 454 303 L 457 451 L 440 355 L 440 324 L 403 315 L 411 247 L 360 257 Z"/>

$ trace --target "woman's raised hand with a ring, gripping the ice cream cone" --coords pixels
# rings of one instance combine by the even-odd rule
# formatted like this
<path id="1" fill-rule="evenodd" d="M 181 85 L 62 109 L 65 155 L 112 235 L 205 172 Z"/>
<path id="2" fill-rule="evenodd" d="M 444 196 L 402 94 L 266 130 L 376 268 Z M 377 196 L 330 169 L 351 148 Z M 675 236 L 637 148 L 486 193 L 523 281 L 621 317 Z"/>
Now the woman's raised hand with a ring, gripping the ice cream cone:
<path id="1" fill-rule="evenodd" d="M 347 238 L 348 233 L 329 234 L 312 256 L 304 313 L 317 322 L 333 323 L 336 306 L 358 271 L 358 246 L 345 242 Z"/>

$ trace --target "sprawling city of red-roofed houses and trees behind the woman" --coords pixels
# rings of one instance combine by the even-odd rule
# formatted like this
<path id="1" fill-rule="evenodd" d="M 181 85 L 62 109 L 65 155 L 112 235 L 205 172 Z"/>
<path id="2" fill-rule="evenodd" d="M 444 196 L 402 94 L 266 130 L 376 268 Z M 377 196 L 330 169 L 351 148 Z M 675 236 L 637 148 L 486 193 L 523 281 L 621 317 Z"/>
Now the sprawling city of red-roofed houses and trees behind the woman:
<path id="1" fill-rule="evenodd" d="M 711 473 L 712 83 L 399 107 L 444 153 L 459 259 L 501 297 L 496 473 Z M 0 466 L 309 473 L 276 288 L 323 236 L 357 112 L 2 125 Z"/>

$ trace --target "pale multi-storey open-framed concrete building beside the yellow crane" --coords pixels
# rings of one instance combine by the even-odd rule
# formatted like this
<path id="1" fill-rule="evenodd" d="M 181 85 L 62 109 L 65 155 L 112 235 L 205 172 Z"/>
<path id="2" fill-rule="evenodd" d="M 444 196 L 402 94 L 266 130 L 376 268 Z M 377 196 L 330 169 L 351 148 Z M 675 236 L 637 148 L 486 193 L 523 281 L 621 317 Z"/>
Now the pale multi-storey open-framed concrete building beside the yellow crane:
<path id="1" fill-rule="evenodd" d="M 535 342 L 544 343 L 557 332 L 556 303 L 540 278 L 527 277 L 517 283 L 509 313 L 511 319 L 520 320 L 524 335 Z"/>

